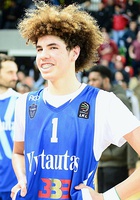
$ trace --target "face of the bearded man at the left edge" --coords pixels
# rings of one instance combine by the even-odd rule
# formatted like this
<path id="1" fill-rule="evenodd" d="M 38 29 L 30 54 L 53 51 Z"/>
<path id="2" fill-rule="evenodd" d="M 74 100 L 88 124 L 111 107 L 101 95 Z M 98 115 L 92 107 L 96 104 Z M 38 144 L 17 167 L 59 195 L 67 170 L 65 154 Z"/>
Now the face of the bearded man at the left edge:
<path id="1" fill-rule="evenodd" d="M 17 78 L 17 65 L 13 61 L 4 61 L 0 69 L 0 88 L 15 88 Z"/>

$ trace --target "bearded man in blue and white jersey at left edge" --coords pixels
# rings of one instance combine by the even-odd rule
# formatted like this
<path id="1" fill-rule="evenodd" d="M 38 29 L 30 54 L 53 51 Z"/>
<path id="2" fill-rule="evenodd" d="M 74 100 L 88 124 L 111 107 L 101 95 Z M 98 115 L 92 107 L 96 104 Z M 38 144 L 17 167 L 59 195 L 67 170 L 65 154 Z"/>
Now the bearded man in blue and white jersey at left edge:
<path id="1" fill-rule="evenodd" d="M 13 150 L 14 109 L 19 97 L 13 88 L 17 82 L 17 64 L 13 57 L 0 54 L 0 199 L 11 200 L 11 188 L 17 179 L 11 158 Z"/>

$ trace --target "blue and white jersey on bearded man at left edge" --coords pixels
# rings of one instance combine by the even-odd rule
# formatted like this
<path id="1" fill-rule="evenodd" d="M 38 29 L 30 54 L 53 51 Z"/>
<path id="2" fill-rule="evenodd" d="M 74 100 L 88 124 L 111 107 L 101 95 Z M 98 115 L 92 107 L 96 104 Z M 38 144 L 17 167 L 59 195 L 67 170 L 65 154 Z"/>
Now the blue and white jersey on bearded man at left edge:
<path id="1" fill-rule="evenodd" d="M 0 192 L 10 192 L 17 183 L 11 163 L 16 99 L 11 96 L 0 100 Z"/>

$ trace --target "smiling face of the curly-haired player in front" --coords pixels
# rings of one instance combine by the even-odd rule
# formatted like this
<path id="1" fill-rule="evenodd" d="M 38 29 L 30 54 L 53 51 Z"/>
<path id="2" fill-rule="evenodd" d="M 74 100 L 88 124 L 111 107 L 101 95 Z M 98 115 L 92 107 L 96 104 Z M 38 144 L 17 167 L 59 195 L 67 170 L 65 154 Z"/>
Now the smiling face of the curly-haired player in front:
<path id="1" fill-rule="evenodd" d="M 68 50 L 59 37 L 46 35 L 38 39 L 36 63 L 42 77 L 51 82 L 65 79 L 75 71 L 74 49 Z"/>

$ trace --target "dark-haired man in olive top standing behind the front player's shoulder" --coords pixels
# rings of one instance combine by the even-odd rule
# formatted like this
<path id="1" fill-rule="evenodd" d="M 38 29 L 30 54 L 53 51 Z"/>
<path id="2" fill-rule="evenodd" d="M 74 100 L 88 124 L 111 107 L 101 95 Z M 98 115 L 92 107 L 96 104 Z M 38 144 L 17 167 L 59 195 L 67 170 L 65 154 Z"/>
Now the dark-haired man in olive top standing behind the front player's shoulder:
<path id="1" fill-rule="evenodd" d="M 89 71 L 89 85 L 113 92 L 130 110 L 131 103 L 126 91 L 120 85 L 113 85 L 112 72 L 105 66 L 97 65 Z M 128 143 L 122 147 L 110 145 L 102 154 L 97 173 L 98 192 L 103 193 L 125 180 L 136 167 L 137 153 Z"/>

